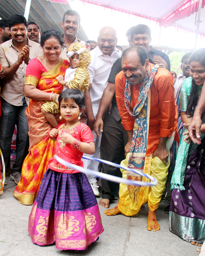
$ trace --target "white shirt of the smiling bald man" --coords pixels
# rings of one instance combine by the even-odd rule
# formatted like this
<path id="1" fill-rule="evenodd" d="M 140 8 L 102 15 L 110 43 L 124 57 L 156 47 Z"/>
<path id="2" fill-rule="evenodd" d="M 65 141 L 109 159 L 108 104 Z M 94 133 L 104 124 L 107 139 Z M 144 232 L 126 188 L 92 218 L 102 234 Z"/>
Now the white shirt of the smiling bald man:
<path id="1" fill-rule="evenodd" d="M 100 99 L 108 84 L 108 77 L 114 62 L 122 56 L 122 52 L 116 47 L 114 48 L 111 56 L 101 52 L 97 46 L 90 52 L 91 64 L 88 66 L 88 71 L 91 77 L 91 101 L 93 106 L 93 113 L 96 117 Z"/>

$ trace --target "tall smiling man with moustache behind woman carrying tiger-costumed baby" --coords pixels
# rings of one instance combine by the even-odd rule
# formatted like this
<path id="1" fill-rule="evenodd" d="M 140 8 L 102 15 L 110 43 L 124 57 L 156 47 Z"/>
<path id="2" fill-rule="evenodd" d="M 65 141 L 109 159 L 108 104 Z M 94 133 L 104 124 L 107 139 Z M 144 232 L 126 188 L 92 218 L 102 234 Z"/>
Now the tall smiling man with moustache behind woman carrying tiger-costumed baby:
<path id="1" fill-rule="evenodd" d="M 64 45 L 61 51 L 61 58 L 66 59 L 67 48 L 71 43 L 79 43 L 81 40 L 76 37 L 78 30 L 80 29 L 80 14 L 74 10 L 68 10 L 63 15 L 63 22 L 61 24 L 64 29 L 64 34 L 62 35 L 62 40 Z"/>

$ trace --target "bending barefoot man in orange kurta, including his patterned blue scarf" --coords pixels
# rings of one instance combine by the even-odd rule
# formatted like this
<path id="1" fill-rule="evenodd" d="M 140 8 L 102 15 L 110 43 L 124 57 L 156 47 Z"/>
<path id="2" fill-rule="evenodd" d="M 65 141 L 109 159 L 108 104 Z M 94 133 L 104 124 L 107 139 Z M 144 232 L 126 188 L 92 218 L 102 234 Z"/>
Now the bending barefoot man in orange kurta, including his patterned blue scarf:
<path id="1" fill-rule="evenodd" d="M 132 216 L 148 201 L 147 230 L 158 231 L 156 210 L 165 189 L 169 149 L 174 136 L 178 140 L 173 78 L 162 64 L 149 63 L 145 48 L 133 46 L 123 52 L 122 71 L 115 85 L 122 125 L 128 135 L 123 164 L 153 176 L 158 185 L 149 188 L 120 184 L 118 206 L 104 213 Z M 129 171 L 123 171 L 123 178 L 148 181 Z"/>

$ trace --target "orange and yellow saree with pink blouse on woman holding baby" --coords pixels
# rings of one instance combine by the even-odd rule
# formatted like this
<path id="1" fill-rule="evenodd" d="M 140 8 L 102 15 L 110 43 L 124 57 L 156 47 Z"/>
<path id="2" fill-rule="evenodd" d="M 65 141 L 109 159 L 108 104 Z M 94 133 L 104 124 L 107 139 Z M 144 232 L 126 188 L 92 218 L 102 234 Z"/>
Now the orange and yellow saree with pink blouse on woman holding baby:
<path id="1" fill-rule="evenodd" d="M 35 73 L 35 68 L 32 68 L 34 64 L 41 66 L 42 71 L 45 71 L 40 61 L 33 59 L 30 69 L 28 65 L 26 70 L 25 84 L 35 85 L 37 89 L 44 92 L 60 94 L 63 86 L 55 78 L 58 75 L 65 76 L 65 71 L 69 67 L 68 61 L 61 60 L 51 70 L 42 72 L 40 79 Z M 29 153 L 22 166 L 21 179 L 14 190 L 14 197 L 25 205 L 33 204 L 46 171 L 46 165 L 55 154 L 55 142 L 47 136 L 52 126 L 41 113 L 41 106 L 44 103 L 30 99 L 25 112 L 29 126 Z M 59 113 L 55 117 L 59 121 Z"/>

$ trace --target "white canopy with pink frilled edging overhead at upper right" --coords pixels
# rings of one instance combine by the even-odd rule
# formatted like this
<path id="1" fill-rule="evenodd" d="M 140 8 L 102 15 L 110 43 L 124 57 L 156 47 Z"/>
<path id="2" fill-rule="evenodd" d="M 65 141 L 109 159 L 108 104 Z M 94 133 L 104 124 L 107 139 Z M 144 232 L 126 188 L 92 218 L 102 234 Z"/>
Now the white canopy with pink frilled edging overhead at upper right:
<path id="1" fill-rule="evenodd" d="M 27 0 L 30 1 L 30 0 Z M 56 3 L 70 3 L 75 0 L 48 0 Z M 84 3 L 95 4 L 104 8 L 128 13 L 152 20 L 162 27 L 175 26 L 186 31 L 205 36 L 205 0 L 80 0 Z"/>

